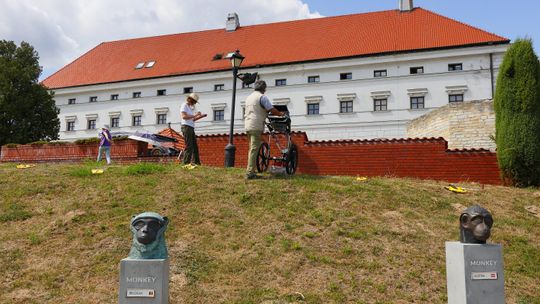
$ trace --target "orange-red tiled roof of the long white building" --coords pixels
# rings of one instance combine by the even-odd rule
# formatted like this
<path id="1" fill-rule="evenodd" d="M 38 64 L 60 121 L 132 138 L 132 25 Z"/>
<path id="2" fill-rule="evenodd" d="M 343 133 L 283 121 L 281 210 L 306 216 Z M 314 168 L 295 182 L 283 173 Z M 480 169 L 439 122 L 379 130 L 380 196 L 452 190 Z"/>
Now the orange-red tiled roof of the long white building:
<path id="1" fill-rule="evenodd" d="M 509 40 L 422 8 L 104 42 L 43 81 L 63 88 L 229 70 L 212 60 L 239 49 L 242 67 L 450 48 Z M 154 67 L 136 70 L 139 62 Z"/>

